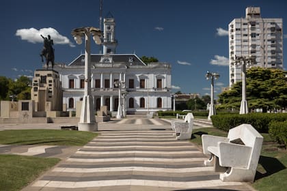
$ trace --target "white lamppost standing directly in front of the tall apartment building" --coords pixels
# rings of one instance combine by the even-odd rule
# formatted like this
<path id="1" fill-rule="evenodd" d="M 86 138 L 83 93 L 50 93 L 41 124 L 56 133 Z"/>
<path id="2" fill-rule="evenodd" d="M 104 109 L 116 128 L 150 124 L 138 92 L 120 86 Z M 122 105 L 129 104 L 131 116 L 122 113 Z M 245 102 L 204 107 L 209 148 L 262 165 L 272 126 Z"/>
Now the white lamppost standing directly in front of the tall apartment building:
<path id="1" fill-rule="evenodd" d="M 248 104 L 246 100 L 246 65 L 251 65 L 256 61 L 256 57 L 236 57 L 235 55 L 235 63 L 236 65 L 242 65 L 242 100 L 240 105 L 239 114 L 248 113 Z"/>

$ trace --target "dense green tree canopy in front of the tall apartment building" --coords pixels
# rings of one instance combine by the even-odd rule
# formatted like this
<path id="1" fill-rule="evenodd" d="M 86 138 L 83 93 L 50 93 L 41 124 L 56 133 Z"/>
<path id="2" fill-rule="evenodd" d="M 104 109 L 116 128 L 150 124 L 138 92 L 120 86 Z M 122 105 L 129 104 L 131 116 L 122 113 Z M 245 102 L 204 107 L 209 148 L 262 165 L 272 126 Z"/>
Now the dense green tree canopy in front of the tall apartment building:
<path id="1" fill-rule="evenodd" d="M 283 70 L 250 68 L 246 74 L 246 96 L 249 108 L 284 109 L 287 106 L 287 79 Z M 241 104 L 242 83 L 219 94 L 221 108 L 238 109 Z"/>

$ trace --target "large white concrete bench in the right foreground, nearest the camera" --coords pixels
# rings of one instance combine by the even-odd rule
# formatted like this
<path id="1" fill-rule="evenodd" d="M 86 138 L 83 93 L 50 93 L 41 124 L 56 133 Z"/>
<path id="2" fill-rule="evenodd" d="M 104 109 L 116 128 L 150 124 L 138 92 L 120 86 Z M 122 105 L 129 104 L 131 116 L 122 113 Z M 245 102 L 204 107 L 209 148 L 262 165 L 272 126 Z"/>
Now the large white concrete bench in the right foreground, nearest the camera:
<path id="1" fill-rule="evenodd" d="M 202 135 L 206 166 L 215 166 L 222 181 L 254 181 L 263 137 L 251 125 L 241 124 L 228 132 L 228 137 Z M 244 144 L 244 145 L 243 145 Z M 214 163 L 214 164 L 213 164 Z"/>

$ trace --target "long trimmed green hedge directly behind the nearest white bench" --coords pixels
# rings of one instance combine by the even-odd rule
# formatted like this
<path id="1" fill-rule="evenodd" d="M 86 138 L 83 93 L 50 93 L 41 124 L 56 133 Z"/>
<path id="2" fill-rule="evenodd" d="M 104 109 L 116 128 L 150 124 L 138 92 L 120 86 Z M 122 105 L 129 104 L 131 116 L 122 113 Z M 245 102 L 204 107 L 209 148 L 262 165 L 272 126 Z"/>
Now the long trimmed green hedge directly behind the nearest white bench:
<path id="1" fill-rule="evenodd" d="M 241 125 L 242 123 L 251 124 L 258 132 L 269 132 L 271 121 L 286 121 L 287 113 L 248 113 L 245 115 L 226 114 L 211 116 L 213 126 L 220 130 L 228 131 L 230 128 Z"/>

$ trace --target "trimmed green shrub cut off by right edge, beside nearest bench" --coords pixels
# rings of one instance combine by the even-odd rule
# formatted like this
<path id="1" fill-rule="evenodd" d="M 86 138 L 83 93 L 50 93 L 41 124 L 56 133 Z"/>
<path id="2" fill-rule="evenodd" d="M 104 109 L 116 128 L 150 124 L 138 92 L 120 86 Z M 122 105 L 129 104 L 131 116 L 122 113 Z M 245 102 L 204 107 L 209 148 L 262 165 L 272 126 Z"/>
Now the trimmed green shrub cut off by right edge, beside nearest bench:
<path id="1" fill-rule="evenodd" d="M 271 121 L 269 134 L 278 143 L 287 145 L 287 121 Z"/>

